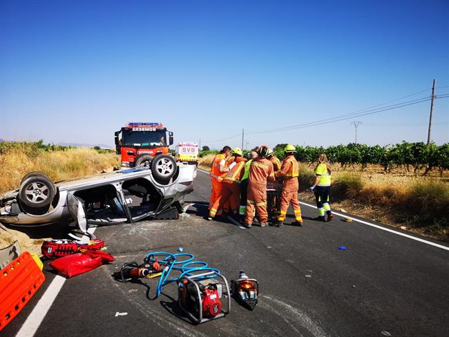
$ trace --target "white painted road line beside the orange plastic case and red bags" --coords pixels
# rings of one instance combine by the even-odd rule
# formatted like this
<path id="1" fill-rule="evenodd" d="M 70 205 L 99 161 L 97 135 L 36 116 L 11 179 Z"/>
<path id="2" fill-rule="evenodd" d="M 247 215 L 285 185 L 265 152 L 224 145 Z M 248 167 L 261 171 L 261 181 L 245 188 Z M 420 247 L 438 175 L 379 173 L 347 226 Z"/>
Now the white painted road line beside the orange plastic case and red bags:
<path id="1" fill-rule="evenodd" d="M 95 229 L 97 229 L 97 227 L 90 227 L 87 231 L 90 234 L 93 234 Z M 84 236 L 87 237 L 86 235 Z M 64 278 L 64 276 L 60 275 L 53 278 L 44 295 L 39 299 L 36 307 L 32 309 L 31 314 L 26 318 L 19 332 L 17 332 L 16 337 L 32 337 L 35 335 L 66 280 L 67 279 Z"/>

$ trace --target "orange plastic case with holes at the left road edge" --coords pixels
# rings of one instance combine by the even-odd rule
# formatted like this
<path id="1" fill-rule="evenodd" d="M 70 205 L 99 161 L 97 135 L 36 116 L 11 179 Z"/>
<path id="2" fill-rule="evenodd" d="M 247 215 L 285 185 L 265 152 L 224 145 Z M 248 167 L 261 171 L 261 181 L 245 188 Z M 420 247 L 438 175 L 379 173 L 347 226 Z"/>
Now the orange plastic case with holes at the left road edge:
<path id="1" fill-rule="evenodd" d="M 0 331 L 15 318 L 44 283 L 45 276 L 28 251 L 0 271 Z"/>

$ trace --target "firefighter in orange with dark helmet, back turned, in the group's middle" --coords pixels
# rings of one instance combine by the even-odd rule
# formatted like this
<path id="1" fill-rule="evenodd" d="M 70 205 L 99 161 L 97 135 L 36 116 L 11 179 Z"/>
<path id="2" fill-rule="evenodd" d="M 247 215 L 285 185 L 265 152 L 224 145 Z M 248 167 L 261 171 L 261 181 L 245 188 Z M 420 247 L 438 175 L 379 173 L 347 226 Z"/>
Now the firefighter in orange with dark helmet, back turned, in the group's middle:
<path id="1" fill-rule="evenodd" d="M 260 227 L 267 226 L 267 181 L 275 182 L 273 164 L 267 160 L 267 146 L 260 146 L 258 157 L 256 157 L 249 167 L 249 183 L 247 193 L 247 210 L 245 224 L 251 228 L 256 209 L 260 222 Z"/>

